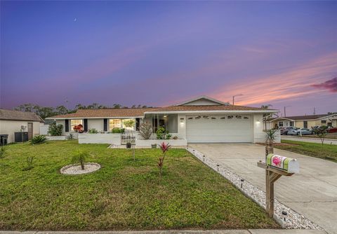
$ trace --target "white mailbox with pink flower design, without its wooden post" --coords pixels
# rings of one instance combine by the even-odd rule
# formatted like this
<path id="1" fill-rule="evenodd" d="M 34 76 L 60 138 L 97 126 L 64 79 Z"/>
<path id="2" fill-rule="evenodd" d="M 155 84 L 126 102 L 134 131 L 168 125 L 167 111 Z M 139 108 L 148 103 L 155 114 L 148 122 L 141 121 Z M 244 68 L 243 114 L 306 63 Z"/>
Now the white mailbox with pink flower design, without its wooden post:
<path id="1" fill-rule="evenodd" d="M 270 153 L 267 155 L 267 166 L 274 167 L 275 169 L 282 170 L 287 173 L 298 173 L 298 161 L 294 158 L 287 158 Z"/>

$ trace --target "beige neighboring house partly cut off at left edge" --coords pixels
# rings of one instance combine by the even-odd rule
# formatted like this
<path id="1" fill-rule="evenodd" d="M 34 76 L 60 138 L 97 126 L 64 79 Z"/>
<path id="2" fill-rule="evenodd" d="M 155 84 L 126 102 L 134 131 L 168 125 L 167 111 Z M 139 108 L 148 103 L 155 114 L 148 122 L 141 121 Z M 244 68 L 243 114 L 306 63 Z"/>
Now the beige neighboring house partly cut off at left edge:
<path id="1" fill-rule="evenodd" d="M 14 132 L 27 132 L 28 139 L 40 133 L 44 121 L 32 112 L 0 109 L 0 135 L 8 135 L 8 143 L 15 142 Z"/>

